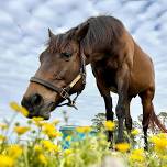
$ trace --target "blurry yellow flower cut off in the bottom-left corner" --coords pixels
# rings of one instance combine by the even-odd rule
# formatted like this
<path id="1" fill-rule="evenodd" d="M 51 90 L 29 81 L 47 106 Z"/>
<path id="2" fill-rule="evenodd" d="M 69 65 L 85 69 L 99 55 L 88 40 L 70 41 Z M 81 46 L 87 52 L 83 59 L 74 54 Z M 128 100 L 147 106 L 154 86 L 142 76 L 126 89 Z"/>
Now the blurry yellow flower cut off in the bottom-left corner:
<path id="1" fill-rule="evenodd" d="M 14 167 L 14 159 L 7 155 L 0 155 L 0 167 Z"/>

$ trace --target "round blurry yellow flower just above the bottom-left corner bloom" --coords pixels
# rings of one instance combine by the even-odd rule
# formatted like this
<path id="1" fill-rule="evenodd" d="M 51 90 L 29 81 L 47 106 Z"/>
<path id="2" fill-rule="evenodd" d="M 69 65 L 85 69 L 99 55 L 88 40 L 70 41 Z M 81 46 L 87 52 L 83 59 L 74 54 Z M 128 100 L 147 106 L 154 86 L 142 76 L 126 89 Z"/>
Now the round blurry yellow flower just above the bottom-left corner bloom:
<path id="1" fill-rule="evenodd" d="M 8 155 L 12 158 L 18 158 L 22 155 L 22 147 L 20 145 L 13 144 L 7 148 Z"/>

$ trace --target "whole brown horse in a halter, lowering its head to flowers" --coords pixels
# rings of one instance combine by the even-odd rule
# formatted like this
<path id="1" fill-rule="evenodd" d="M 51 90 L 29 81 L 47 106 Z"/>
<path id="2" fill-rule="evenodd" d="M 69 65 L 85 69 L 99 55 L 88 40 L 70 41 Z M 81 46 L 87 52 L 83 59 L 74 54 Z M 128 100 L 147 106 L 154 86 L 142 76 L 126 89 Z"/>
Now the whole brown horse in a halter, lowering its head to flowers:
<path id="1" fill-rule="evenodd" d="M 48 119 L 51 111 L 66 99 L 68 105 L 74 105 L 70 94 L 79 94 L 84 89 L 86 63 L 91 65 L 104 99 L 107 120 L 113 121 L 110 91 L 119 94 L 115 109 L 118 142 L 123 142 L 124 120 L 126 129 L 132 130 L 130 102 L 136 96 L 142 99 L 145 144 L 151 121 L 166 131 L 152 102 L 155 92 L 153 62 L 118 19 L 90 18 L 64 34 L 54 35 L 49 31 L 48 46 L 40 55 L 40 62 L 41 66 L 35 77 L 31 78 L 22 100 L 22 105 L 30 111 L 29 118 Z"/>

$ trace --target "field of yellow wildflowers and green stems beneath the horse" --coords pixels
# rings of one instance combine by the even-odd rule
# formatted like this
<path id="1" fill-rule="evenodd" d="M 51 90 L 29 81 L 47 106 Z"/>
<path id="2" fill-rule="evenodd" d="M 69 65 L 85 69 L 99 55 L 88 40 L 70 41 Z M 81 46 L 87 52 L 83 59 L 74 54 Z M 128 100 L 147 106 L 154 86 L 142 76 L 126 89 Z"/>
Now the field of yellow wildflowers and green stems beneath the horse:
<path id="1" fill-rule="evenodd" d="M 27 114 L 15 102 L 10 107 L 16 113 Z M 0 167 L 167 167 L 165 133 L 149 136 L 148 152 L 137 142 L 141 141 L 137 140 L 138 130 L 131 132 L 130 143 L 113 143 L 109 148 L 104 131 L 114 131 L 114 122 L 105 121 L 104 129 L 94 136 L 89 135 L 91 126 L 76 127 L 76 133 L 86 137 L 74 142 L 74 135 L 62 140 L 62 133 L 56 129 L 58 123 L 58 120 L 46 122 L 42 118 L 27 120 L 26 125 L 1 122 Z M 11 140 L 13 135 L 15 137 Z M 70 142 L 70 147 L 64 149 L 64 142 Z"/>

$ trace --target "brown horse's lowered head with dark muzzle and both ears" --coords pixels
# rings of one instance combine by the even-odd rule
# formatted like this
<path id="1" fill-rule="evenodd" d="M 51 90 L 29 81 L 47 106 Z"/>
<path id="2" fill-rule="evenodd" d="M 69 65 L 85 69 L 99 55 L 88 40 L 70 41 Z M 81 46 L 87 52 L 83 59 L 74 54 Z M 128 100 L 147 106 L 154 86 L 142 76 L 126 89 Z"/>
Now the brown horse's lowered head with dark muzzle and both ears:
<path id="1" fill-rule="evenodd" d="M 40 55 L 41 65 L 21 102 L 27 109 L 29 118 L 49 119 L 51 111 L 69 98 L 63 92 L 63 88 L 71 82 L 74 86 L 67 96 L 84 89 L 82 79 L 77 76 L 81 68 L 80 41 L 86 36 L 88 27 L 88 23 L 82 24 L 58 35 L 48 30 L 48 46 Z"/>

